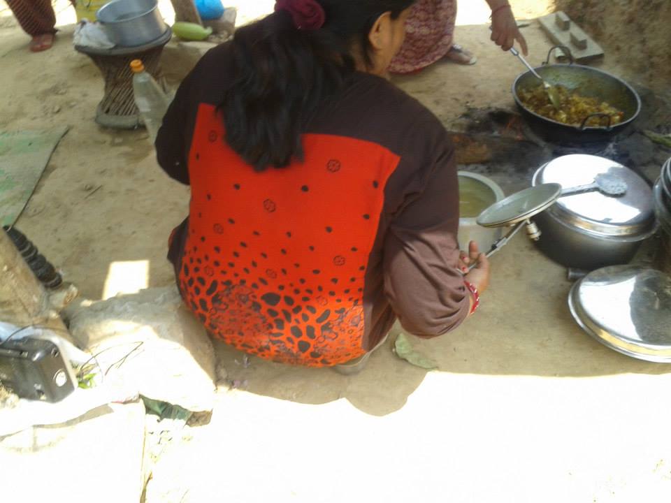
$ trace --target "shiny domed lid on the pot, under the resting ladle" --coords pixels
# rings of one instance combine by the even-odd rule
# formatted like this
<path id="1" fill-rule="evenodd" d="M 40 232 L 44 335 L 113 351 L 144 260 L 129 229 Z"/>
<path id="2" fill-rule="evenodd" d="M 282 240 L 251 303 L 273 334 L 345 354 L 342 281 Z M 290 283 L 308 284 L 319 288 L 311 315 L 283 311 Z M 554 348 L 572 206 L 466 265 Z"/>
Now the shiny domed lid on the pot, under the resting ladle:
<path id="1" fill-rule="evenodd" d="M 633 236 L 655 226 L 652 191 L 633 170 L 605 157 L 571 154 L 541 166 L 533 185 L 558 183 L 563 189 L 591 184 L 597 175 L 619 178 L 627 185 L 626 194 L 606 196 L 599 191 L 564 196 L 550 212 L 565 224 L 608 236 Z"/>

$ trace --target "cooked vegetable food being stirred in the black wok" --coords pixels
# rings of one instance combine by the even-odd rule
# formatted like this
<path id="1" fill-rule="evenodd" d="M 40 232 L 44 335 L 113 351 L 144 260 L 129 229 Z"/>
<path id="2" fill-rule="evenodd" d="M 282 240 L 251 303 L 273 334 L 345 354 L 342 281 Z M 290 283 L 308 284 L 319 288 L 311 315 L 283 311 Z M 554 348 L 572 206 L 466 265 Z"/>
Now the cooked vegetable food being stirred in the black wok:
<path id="1" fill-rule="evenodd" d="M 571 91 L 561 85 L 555 87 L 561 102 L 558 109 L 550 103 L 547 92 L 542 85 L 532 89 L 520 90 L 519 99 L 532 112 L 562 124 L 580 126 L 587 116 L 595 113 L 609 115 L 610 125 L 612 126 L 622 122 L 624 112 L 609 103 L 596 98 L 581 96 L 579 92 Z M 606 127 L 608 126 L 608 117 L 591 117 L 585 125 Z"/>

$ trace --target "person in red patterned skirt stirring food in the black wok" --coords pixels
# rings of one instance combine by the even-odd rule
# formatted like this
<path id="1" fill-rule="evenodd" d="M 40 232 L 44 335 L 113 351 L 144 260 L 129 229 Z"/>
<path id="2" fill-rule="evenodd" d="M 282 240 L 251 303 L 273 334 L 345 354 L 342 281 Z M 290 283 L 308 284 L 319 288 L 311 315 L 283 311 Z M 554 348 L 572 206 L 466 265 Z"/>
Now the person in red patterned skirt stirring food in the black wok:
<path id="1" fill-rule="evenodd" d="M 486 0 L 491 8 L 491 40 L 503 50 L 518 41 L 527 54 L 526 40 L 517 28 L 507 0 Z M 419 73 L 440 59 L 475 64 L 477 58 L 454 43 L 456 0 L 417 0 L 405 27 L 405 42 L 389 66 L 390 73 Z"/>

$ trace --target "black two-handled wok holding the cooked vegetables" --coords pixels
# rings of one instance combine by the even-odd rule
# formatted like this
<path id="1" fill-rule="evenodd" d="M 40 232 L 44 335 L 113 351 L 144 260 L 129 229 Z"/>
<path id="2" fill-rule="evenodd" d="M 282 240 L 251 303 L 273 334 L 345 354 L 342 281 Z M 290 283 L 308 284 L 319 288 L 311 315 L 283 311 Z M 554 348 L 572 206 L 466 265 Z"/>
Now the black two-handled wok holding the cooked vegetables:
<path id="1" fill-rule="evenodd" d="M 561 49 L 570 59 L 569 64 L 548 64 L 552 51 Z M 573 64 L 570 49 L 557 45 L 547 53 L 547 60 L 535 71 L 547 80 L 551 85 L 563 85 L 571 90 L 579 90 L 582 96 L 593 97 L 606 101 L 609 105 L 624 113 L 622 122 L 609 126 L 586 126 L 586 122 L 595 116 L 608 117 L 605 114 L 593 114 L 584 118 L 579 126 L 562 124 L 553 119 L 542 117 L 532 112 L 519 99 L 519 92 L 535 89 L 541 85 L 530 71 L 519 75 L 512 85 L 512 96 L 521 110 L 522 116 L 544 139 L 562 145 L 585 145 L 589 143 L 602 143 L 610 140 L 613 136 L 626 129 L 641 111 L 641 99 L 637 92 L 623 80 L 609 73 L 589 66 Z"/>

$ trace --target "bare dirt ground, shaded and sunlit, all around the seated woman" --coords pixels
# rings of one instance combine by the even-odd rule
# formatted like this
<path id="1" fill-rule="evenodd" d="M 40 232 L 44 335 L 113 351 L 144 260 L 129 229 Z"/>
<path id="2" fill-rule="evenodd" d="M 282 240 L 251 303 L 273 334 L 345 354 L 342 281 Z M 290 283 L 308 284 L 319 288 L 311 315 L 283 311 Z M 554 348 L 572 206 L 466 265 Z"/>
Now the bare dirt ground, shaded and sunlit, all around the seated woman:
<path id="1" fill-rule="evenodd" d="M 273 4 L 233 3 L 242 20 Z M 528 19 L 556 7 L 513 4 Z M 101 76 L 72 49 L 73 14 L 64 1 L 57 6 L 65 25 L 55 48 L 30 54 L 0 0 L 0 129 L 71 128 L 18 226 L 87 298 L 123 279 L 171 284 L 166 240 L 187 213 L 188 190 L 159 170 L 145 131 L 93 122 Z M 440 62 L 395 80 L 445 124 L 468 107 L 512 107 L 510 85 L 522 68 L 489 41 L 487 17 L 484 2 L 459 17 L 456 39 L 477 54 L 475 66 Z M 523 32 L 529 59 L 540 64 L 551 44 L 534 22 Z M 607 45 L 616 38 L 610 31 Z M 667 41 L 667 31 L 649 33 L 646 43 L 657 39 Z M 596 66 L 668 85 L 663 72 L 642 73 L 625 51 L 621 43 Z M 124 265 L 138 264 L 146 281 L 138 268 L 123 277 Z M 565 308 L 565 271 L 526 240 L 512 242 L 493 266 L 478 316 L 449 337 L 416 342 L 438 360 L 438 372 L 405 365 L 389 348 L 359 376 L 343 377 L 256 359 L 246 366 L 219 345 L 243 389 L 219 393 L 210 424 L 192 428 L 192 441 L 159 465 L 147 501 L 670 501 L 669 367 L 584 335 Z"/>

